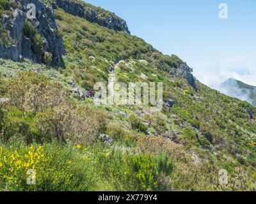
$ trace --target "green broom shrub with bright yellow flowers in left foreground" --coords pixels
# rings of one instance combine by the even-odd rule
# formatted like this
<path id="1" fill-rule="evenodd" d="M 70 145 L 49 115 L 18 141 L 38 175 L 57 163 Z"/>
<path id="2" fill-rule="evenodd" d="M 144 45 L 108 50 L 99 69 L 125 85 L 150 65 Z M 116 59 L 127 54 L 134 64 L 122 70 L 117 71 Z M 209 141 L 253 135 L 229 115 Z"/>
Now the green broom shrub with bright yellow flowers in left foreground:
<path id="1" fill-rule="evenodd" d="M 0 143 L 0 166 L 0 190 L 5 191 L 90 191 L 97 182 L 88 156 L 72 145 L 56 142 L 29 146 Z M 30 185 L 31 170 L 35 183 Z"/>

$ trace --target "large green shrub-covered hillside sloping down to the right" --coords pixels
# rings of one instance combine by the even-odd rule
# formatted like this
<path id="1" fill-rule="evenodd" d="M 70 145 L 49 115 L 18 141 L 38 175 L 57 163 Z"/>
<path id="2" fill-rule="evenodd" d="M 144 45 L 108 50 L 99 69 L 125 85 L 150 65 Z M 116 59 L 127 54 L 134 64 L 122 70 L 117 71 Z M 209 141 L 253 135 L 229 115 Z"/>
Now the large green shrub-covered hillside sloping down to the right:
<path id="1" fill-rule="evenodd" d="M 6 1 L 0 2 L 2 16 L 15 18 L 14 10 L 4 11 Z M 23 2 L 16 1 L 17 9 Z M 86 12 L 92 8 L 103 21 L 108 15 L 119 19 L 116 26 L 123 22 L 106 10 L 81 1 L 45 4 L 54 12 L 54 32 L 65 48 L 58 52 L 61 66 L 53 55 L 47 61 L 33 55 L 0 59 L 1 190 L 255 190 L 255 107 L 201 84 L 179 57 Z M 70 9 L 63 10 L 63 4 Z M 72 13 L 72 4 L 84 11 Z M 24 20 L 31 27 L 27 38 L 35 40 L 28 33 L 35 31 L 47 40 Z M 13 38 L 8 27 L 3 32 Z M 51 52 L 47 49 L 42 48 L 43 57 Z M 163 82 L 164 102 L 172 105 L 155 113 L 148 106 L 96 106 L 69 83 L 93 89 L 96 82 L 108 83 L 113 68 L 116 82 Z M 35 184 L 27 184 L 28 170 L 35 170 Z M 219 182 L 220 170 L 228 172 L 227 185 Z"/>

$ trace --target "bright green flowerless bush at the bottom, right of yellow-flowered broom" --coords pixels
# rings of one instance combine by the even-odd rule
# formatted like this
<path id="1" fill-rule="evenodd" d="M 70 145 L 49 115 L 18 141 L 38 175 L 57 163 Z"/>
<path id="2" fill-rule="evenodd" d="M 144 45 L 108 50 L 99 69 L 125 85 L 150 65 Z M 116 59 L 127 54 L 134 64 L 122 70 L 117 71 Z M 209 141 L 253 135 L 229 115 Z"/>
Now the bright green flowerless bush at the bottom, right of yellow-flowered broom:
<path id="1" fill-rule="evenodd" d="M 99 151 L 102 152 L 99 154 Z M 166 154 L 131 155 L 120 151 L 95 151 L 94 159 L 108 186 L 115 191 L 168 191 L 173 164 Z M 164 179 L 163 179 L 164 178 Z"/>

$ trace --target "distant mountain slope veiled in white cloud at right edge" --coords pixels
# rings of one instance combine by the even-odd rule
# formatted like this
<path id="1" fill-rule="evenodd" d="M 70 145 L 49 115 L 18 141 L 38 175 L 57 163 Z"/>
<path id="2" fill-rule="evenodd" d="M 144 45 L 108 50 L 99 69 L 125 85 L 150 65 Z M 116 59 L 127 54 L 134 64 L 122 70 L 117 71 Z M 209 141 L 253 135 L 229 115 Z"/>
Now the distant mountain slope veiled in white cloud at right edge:
<path id="1" fill-rule="evenodd" d="M 248 84 L 244 84 L 234 78 L 229 78 L 226 82 L 221 84 L 221 91 L 235 98 L 239 98 L 244 101 L 248 101 L 252 105 L 256 106 L 256 87 Z"/>

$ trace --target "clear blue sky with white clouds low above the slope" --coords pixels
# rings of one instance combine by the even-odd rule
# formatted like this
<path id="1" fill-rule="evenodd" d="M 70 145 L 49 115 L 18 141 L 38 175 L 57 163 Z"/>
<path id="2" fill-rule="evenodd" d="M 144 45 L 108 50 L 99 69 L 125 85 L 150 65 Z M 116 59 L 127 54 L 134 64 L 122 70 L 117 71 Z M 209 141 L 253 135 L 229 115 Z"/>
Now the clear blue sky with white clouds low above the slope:
<path id="1" fill-rule="evenodd" d="M 198 80 L 218 87 L 229 77 L 256 85 L 255 0 L 86 0 L 127 21 L 133 35 L 178 55 Z M 228 19 L 218 17 L 219 4 Z"/>

